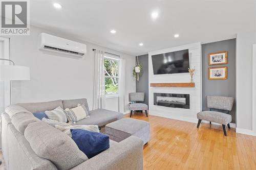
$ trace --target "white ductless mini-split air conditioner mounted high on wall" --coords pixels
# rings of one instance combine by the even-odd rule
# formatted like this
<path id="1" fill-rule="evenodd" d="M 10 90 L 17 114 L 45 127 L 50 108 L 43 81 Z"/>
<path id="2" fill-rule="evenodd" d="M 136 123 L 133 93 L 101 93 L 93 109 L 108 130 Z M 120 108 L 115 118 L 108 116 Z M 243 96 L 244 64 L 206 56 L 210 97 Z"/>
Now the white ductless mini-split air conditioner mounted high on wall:
<path id="1" fill-rule="evenodd" d="M 77 57 L 83 57 L 87 52 L 86 44 L 46 33 L 41 33 L 39 35 L 39 49 Z"/>

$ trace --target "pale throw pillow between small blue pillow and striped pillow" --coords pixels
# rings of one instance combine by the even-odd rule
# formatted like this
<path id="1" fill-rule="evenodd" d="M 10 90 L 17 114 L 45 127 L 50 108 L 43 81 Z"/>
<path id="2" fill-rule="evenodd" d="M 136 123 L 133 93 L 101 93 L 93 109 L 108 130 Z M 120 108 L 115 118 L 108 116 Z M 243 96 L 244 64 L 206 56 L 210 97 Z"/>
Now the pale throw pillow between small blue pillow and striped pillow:
<path id="1" fill-rule="evenodd" d="M 65 114 L 65 111 L 59 106 L 54 110 L 45 111 L 49 119 L 56 120 L 58 122 L 68 122 L 68 118 Z"/>

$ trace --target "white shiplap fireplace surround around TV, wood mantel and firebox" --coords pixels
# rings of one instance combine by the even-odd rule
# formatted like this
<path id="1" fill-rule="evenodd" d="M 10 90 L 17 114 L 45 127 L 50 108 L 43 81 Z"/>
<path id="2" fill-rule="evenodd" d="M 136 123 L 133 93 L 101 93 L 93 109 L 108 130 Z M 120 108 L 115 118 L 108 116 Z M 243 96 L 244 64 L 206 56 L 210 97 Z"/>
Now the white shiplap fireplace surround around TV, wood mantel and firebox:
<path id="1" fill-rule="evenodd" d="M 152 55 L 175 52 L 188 49 L 190 68 L 196 68 L 194 75 L 195 87 L 151 87 L 150 83 L 188 83 L 189 73 L 154 75 L 152 66 Z M 188 44 L 148 53 L 148 105 L 151 115 L 184 120 L 187 122 L 197 122 L 197 113 L 201 111 L 201 43 Z M 172 108 L 154 105 L 155 93 L 175 93 L 189 94 L 190 108 Z"/>

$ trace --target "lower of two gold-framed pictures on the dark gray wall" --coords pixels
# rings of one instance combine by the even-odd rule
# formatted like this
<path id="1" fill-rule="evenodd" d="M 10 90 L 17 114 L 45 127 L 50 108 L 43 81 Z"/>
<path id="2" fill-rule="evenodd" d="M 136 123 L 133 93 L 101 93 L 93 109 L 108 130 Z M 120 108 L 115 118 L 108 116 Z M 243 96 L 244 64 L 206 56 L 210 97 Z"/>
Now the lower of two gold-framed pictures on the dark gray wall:
<path id="1" fill-rule="evenodd" d="M 209 80 L 225 80 L 227 79 L 227 67 L 209 67 Z"/>

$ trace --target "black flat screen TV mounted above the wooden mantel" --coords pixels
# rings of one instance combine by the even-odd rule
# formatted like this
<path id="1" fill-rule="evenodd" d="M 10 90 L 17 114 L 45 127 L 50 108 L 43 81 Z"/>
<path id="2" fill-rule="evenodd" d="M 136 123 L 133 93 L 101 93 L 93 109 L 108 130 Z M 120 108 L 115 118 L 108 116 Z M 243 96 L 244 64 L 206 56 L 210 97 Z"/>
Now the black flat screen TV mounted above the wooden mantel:
<path id="1" fill-rule="evenodd" d="M 154 75 L 188 72 L 188 50 L 152 55 Z"/>

